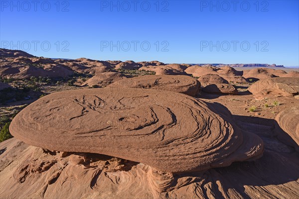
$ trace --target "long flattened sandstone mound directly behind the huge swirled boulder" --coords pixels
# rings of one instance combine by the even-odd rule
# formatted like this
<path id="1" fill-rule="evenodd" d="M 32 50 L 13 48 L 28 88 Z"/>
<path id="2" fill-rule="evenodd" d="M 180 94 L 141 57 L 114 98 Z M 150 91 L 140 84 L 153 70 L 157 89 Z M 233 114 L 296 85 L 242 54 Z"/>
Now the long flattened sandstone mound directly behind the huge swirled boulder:
<path id="1" fill-rule="evenodd" d="M 123 79 L 110 84 L 108 87 L 118 90 L 150 88 L 161 91 L 174 91 L 190 96 L 195 96 L 200 91 L 199 81 L 186 75 L 144 75 Z"/>

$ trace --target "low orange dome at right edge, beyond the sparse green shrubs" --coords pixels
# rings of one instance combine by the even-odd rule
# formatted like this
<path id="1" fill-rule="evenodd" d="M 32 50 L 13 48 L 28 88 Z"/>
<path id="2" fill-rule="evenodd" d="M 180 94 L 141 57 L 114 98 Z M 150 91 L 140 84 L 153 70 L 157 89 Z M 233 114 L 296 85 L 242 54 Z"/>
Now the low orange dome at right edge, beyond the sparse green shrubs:
<path id="1" fill-rule="evenodd" d="M 299 78 L 274 77 L 259 80 L 252 84 L 248 90 L 257 99 L 273 96 L 294 96 L 299 92 Z"/>

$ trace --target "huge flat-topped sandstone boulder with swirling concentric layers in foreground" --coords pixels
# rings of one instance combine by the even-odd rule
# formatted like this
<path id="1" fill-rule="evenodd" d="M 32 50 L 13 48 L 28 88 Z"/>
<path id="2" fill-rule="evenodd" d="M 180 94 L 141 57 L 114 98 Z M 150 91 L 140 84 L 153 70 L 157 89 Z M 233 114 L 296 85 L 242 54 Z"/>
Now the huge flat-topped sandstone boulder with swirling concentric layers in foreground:
<path id="1" fill-rule="evenodd" d="M 104 154 L 181 173 L 262 156 L 263 141 L 230 118 L 185 94 L 96 88 L 42 97 L 17 114 L 9 130 L 43 149 Z"/>

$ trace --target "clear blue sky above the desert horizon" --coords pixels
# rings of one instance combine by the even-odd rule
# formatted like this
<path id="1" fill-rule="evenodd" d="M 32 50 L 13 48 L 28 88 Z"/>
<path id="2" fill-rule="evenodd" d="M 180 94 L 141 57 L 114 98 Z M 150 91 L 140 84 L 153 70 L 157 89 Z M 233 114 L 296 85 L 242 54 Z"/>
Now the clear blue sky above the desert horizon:
<path id="1" fill-rule="evenodd" d="M 0 47 L 53 58 L 299 65 L 298 0 L 210 2 L 1 0 Z"/>

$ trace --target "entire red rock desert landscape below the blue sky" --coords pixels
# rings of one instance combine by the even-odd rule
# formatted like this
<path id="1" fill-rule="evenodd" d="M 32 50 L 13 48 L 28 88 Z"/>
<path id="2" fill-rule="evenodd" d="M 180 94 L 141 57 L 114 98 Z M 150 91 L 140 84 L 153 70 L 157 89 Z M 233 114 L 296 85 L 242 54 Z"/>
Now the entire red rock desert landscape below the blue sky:
<path id="1" fill-rule="evenodd" d="M 299 197 L 298 69 L 0 49 L 0 77 L 1 199 Z"/>

